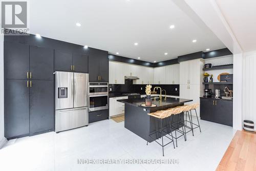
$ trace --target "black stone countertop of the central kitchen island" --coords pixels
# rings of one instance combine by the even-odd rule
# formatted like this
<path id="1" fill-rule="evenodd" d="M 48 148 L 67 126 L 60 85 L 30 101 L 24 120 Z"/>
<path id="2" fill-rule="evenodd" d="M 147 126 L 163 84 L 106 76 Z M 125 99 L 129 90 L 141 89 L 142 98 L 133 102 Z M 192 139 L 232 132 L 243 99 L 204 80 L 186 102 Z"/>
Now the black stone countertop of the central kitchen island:
<path id="1" fill-rule="evenodd" d="M 149 108 L 149 107 L 141 106 L 141 104 L 144 103 L 144 98 L 122 99 L 122 100 L 117 100 L 117 101 L 122 102 L 122 103 L 127 103 L 127 104 L 130 104 L 133 106 L 138 106 L 140 108 Z M 157 106 L 152 107 L 151 109 L 179 105 L 179 104 L 183 104 L 183 103 L 186 103 L 189 101 L 193 101 L 193 100 L 172 98 L 172 97 L 167 97 L 166 100 L 164 99 L 164 97 L 162 98 L 162 100 L 160 100 L 160 98 L 156 98 L 156 100 L 154 100 L 154 97 L 152 97 L 152 104 L 156 104 Z"/>

